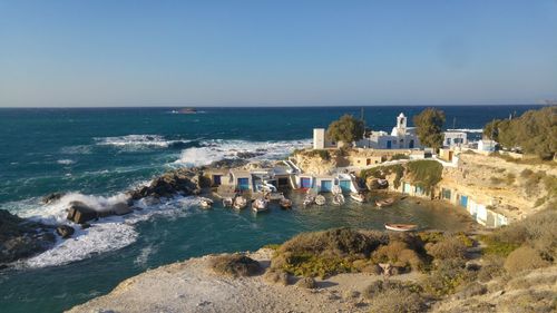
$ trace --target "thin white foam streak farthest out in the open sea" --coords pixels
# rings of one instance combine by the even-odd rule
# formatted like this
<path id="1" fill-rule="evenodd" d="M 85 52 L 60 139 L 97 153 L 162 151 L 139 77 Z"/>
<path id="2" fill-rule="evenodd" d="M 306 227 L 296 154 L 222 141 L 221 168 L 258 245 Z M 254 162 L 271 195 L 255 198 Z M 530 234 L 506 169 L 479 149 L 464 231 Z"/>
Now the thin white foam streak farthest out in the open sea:
<path id="1" fill-rule="evenodd" d="M 123 148 L 167 148 L 177 143 L 189 143 L 190 140 L 168 140 L 160 135 L 126 135 L 118 137 L 94 138 L 97 145 L 115 146 Z"/>

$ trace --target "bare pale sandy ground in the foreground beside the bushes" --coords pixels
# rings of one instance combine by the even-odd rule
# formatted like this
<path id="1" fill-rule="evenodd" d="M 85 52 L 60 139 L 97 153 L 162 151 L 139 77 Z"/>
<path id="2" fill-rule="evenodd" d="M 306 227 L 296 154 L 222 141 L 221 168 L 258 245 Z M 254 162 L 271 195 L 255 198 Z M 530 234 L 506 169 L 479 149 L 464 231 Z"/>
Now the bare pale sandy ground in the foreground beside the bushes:
<path id="1" fill-rule="evenodd" d="M 263 267 L 272 251 L 248 254 Z M 209 256 L 162 266 L 120 283 L 113 292 L 68 312 L 368 312 L 361 295 L 382 276 L 341 274 L 317 281 L 319 288 L 267 283 L 262 275 L 226 277 L 209 267 Z M 404 274 L 398 280 L 414 280 Z"/>

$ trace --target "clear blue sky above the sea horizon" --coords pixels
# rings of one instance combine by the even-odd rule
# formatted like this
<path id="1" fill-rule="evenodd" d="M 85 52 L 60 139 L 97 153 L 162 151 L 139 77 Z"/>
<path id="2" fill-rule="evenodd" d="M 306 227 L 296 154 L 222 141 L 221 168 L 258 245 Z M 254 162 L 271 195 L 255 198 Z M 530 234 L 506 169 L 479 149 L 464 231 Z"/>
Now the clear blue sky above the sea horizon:
<path id="1" fill-rule="evenodd" d="M 0 106 L 557 99 L 557 0 L 0 0 Z"/>

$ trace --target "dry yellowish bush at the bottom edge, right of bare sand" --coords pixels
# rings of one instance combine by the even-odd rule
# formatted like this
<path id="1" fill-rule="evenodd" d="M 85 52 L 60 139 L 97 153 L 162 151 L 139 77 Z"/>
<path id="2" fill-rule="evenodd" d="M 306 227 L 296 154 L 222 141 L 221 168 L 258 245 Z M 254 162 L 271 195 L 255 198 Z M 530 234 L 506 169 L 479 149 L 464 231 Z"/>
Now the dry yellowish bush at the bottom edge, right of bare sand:
<path id="1" fill-rule="evenodd" d="M 369 300 L 370 312 L 413 313 L 426 310 L 421 288 L 399 281 L 377 281 L 368 286 L 363 296 Z"/>

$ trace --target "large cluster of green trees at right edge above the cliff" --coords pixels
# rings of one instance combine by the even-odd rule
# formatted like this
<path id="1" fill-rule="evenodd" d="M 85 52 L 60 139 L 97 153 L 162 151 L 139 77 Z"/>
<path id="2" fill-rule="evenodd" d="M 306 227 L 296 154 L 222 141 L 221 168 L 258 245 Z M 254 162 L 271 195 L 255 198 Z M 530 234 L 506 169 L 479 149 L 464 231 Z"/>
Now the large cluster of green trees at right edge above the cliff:
<path id="1" fill-rule="evenodd" d="M 483 127 L 483 137 L 507 149 L 551 159 L 557 151 L 557 106 L 528 110 L 514 119 L 495 119 Z"/>

